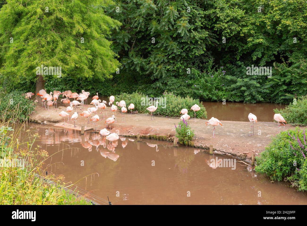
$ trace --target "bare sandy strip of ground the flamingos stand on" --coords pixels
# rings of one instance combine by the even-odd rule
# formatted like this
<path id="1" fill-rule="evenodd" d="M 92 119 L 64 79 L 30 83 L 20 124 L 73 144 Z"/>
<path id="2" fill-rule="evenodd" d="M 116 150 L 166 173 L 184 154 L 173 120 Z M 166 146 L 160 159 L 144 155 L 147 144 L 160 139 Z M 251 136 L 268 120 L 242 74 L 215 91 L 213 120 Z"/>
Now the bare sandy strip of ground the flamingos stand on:
<path id="1" fill-rule="evenodd" d="M 90 107 L 93 107 L 91 105 Z M 87 109 L 87 107 L 82 108 Z M 38 123 L 54 125 L 57 122 L 64 122 L 64 118 L 59 116 L 59 113 L 66 107 L 58 106 L 58 109 L 50 108 L 45 110 L 41 106 L 37 106 L 35 113 L 31 116 L 31 121 Z M 86 119 L 80 116 L 82 112 L 79 109 L 79 117 L 76 120 L 76 125 L 85 125 Z M 99 109 L 98 111 L 99 112 Z M 73 112 L 71 112 L 72 115 Z M 94 114 L 92 114 L 93 116 Z M 105 119 L 112 116 L 111 108 L 107 107 L 107 117 L 102 118 L 101 114 L 98 114 L 100 120 L 96 123 L 87 124 L 87 127 L 97 127 L 97 130 L 106 128 Z M 166 135 L 172 137 L 175 135 L 175 126 L 179 122 L 179 118 L 154 116 L 155 120 L 150 120 L 150 114 L 126 114 L 126 122 L 122 122 L 121 111 L 118 109 L 116 112 L 117 122 L 111 125 L 111 132 L 119 130 L 121 135 L 135 135 L 138 132 L 142 134 L 152 135 Z M 67 121 L 67 120 L 66 120 Z M 215 138 L 212 138 L 213 127 L 205 123 L 208 120 L 191 118 L 188 122 L 191 128 L 195 130 L 195 146 L 209 146 L 210 144 L 216 148 L 217 151 L 223 152 L 223 154 L 240 155 L 242 153 L 247 154 L 250 158 L 252 153 L 256 155 L 262 152 L 266 145 L 271 142 L 272 137 L 283 130 L 283 126 L 278 127 L 277 122 L 258 122 L 254 123 L 254 134 L 249 136 L 251 130 L 250 122 L 238 122 L 238 121 L 221 121 L 223 126 L 216 126 Z M 69 121 L 73 124 L 73 121 Z M 286 125 L 285 130 L 293 129 L 291 125 Z M 109 129 L 109 126 L 108 126 Z"/>

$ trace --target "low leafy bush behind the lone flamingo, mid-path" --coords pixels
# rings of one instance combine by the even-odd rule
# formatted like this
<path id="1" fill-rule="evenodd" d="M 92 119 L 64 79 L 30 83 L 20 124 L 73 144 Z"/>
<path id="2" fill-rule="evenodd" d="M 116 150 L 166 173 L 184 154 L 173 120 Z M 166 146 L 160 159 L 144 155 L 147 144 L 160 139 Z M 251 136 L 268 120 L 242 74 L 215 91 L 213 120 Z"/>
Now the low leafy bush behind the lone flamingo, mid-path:
<path id="1" fill-rule="evenodd" d="M 156 98 L 156 99 L 155 99 Z M 145 96 L 142 93 L 134 92 L 132 94 L 122 93 L 120 95 L 115 96 L 115 102 L 124 100 L 126 102 L 126 107 L 133 103 L 134 111 L 137 110 L 138 113 L 149 113 L 146 108 L 151 105 L 156 106 L 156 100 L 159 102 L 158 109 L 153 113 L 155 115 L 165 115 L 171 117 L 179 117 L 181 116 L 180 111 L 183 108 L 188 109 L 188 114 L 193 117 L 194 112 L 191 111 L 191 107 L 194 104 L 200 106 L 200 110 L 196 112 L 197 118 L 207 118 L 207 112 L 202 102 L 199 100 L 195 100 L 191 97 L 177 97 L 172 93 L 163 93 L 161 97 L 151 98 Z"/>

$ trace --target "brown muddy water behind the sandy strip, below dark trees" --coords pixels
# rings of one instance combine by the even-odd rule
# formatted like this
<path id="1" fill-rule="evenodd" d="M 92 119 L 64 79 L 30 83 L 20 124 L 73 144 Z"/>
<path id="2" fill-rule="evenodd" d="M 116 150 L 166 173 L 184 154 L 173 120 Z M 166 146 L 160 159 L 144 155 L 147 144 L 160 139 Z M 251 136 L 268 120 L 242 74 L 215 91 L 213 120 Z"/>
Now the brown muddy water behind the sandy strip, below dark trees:
<path id="1" fill-rule="evenodd" d="M 92 97 L 89 99 L 91 100 Z M 108 97 L 99 97 L 101 101 L 105 100 L 109 103 Z M 167 103 L 166 103 L 167 104 Z M 206 108 L 208 119 L 215 117 L 223 121 L 249 121 L 248 114 L 253 113 L 257 116 L 258 121 L 271 122 L 274 121 L 273 109 L 282 109 L 286 105 L 272 103 L 241 103 L 241 102 L 203 102 Z M 192 117 L 192 116 L 191 116 Z"/>

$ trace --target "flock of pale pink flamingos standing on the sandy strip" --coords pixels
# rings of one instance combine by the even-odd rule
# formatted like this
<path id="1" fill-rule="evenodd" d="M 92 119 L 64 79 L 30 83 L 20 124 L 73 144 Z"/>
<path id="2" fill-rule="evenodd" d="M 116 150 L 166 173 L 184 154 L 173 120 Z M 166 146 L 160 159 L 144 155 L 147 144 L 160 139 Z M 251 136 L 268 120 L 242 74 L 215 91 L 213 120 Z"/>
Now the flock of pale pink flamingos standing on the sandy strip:
<path id="1" fill-rule="evenodd" d="M 24 95 L 25 95 L 25 98 L 31 98 L 31 96 L 35 95 L 35 93 L 29 92 L 29 93 L 25 93 Z M 60 95 L 62 95 L 62 97 L 65 97 L 64 99 L 61 99 L 61 102 L 63 104 L 69 104 L 69 106 L 66 108 L 66 112 L 61 111 L 59 113 L 59 115 L 61 117 L 64 117 L 64 122 L 65 122 L 66 117 L 68 117 L 68 121 L 69 121 L 69 118 L 71 120 L 73 120 L 74 126 L 76 127 L 76 119 L 78 117 L 78 113 L 76 112 L 76 107 L 80 105 L 80 110 L 81 110 L 81 107 L 84 105 L 84 102 L 87 104 L 87 98 L 89 97 L 90 93 L 82 90 L 82 92 L 78 94 L 78 93 L 72 93 L 72 91 L 67 90 L 67 91 L 64 91 L 64 92 L 54 91 L 53 93 L 50 92 L 48 94 L 45 89 L 41 89 L 39 91 L 39 93 L 37 94 L 37 97 L 38 96 L 41 97 L 42 107 L 44 107 L 43 105 L 45 105 L 45 109 L 47 110 L 47 107 L 46 107 L 46 104 L 47 104 L 48 110 L 49 110 L 49 106 L 52 106 L 53 104 L 54 104 L 54 108 L 57 106 L 57 100 L 59 99 Z M 74 99 L 74 100 L 70 101 L 71 98 Z M 81 102 L 79 102 L 79 101 L 81 101 Z M 114 114 L 112 115 L 112 117 L 107 118 L 105 123 L 107 124 L 107 127 L 108 127 L 108 125 L 110 125 L 110 131 L 111 131 L 111 124 L 116 122 L 116 111 L 118 109 L 118 106 L 120 107 L 120 110 L 122 111 L 122 122 L 125 122 L 125 114 L 127 113 L 128 110 L 130 110 L 131 114 L 132 114 L 132 110 L 134 109 L 134 104 L 131 103 L 128 106 L 128 110 L 127 110 L 126 102 L 124 100 L 121 100 L 119 102 L 115 102 L 115 97 L 110 96 L 109 101 L 110 101 L 109 106 L 111 106 L 111 111 Z M 35 100 L 35 102 L 37 103 L 38 100 Z M 115 105 L 114 105 L 114 102 L 115 102 Z M 99 121 L 100 118 L 99 118 L 98 114 L 95 114 L 98 109 L 100 111 L 100 114 L 102 114 L 103 119 L 104 119 L 105 116 L 107 116 L 107 110 L 106 110 L 107 101 L 101 102 L 101 100 L 98 97 L 98 93 L 96 93 L 96 95 L 94 97 L 92 97 L 90 104 L 95 105 L 95 107 L 87 108 L 87 110 L 80 113 L 81 117 L 86 118 L 85 123 L 87 123 L 87 119 L 89 120 L 88 123 L 90 121 L 93 121 L 93 122 Z M 69 113 L 73 111 L 73 109 L 74 109 L 73 107 L 75 107 L 75 112 L 72 115 L 70 115 Z M 153 112 L 155 112 L 157 110 L 157 108 L 158 108 L 158 101 L 156 101 L 156 106 L 153 105 L 153 106 L 146 108 L 151 113 L 151 120 L 152 120 L 152 118 L 154 119 Z M 197 104 L 195 104 L 191 107 L 191 110 L 194 111 L 194 117 L 196 119 L 196 113 L 195 112 L 199 111 L 200 107 Z M 92 116 L 91 119 L 89 119 L 89 117 L 91 116 L 92 113 L 94 113 L 95 115 Z M 188 109 L 184 108 L 180 111 L 180 113 L 182 114 L 182 116 L 180 117 L 181 121 L 187 121 L 188 119 L 190 119 L 190 116 L 188 115 Z M 254 114 L 249 113 L 248 119 L 251 122 L 251 133 L 250 133 L 250 136 L 251 136 L 251 135 L 254 135 L 254 122 L 257 123 L 257 117 Z M 285 129 L 285 123 L 287 123 L 287 122 L 282 117 L 281 114 L 274 114 L 274 120 L 278 122 L 278 126 L 280 126 L 281 125 L 280 123 L 282 123 L 284 125 L 284 129 Z M 212 117 L 211 119 L 209 119 L 206 122 L 206 125 L 212 125 L 213 126 L 213 137 L 215 137 L 215 134 L 214 134 L 215 127 L 218 126 L 218 125 L 222 126 L 222 123 L 217 118 Z M 112 142 L 119 139 L 119 136 L 116 133 L 110 134 L 110 131 L 108 131 L 106 128 L 101 129 L 100 132 L 99 132 L 103 137 L 106 137 L 107 140 L 112 141 Z"/>

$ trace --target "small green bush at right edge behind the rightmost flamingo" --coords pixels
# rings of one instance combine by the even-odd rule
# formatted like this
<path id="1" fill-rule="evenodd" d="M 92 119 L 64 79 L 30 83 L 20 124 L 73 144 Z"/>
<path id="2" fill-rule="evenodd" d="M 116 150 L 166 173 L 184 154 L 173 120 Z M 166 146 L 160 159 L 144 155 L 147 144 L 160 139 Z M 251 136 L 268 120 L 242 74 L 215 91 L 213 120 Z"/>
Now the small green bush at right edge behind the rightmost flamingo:
<path id="1" fill-rule="evenodd" d="M 274 109 L 274 112 L 280 113 L 292 125 L 307 125 L 307 97 L 293 99 L 293 103 L 280 110 Z"/>

